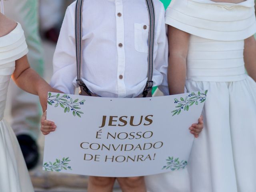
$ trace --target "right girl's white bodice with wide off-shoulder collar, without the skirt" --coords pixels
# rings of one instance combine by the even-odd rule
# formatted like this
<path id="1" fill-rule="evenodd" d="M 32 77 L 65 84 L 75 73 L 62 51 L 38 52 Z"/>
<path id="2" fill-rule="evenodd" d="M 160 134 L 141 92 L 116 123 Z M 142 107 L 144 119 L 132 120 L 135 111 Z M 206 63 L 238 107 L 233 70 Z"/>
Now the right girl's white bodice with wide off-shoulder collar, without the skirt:
<path id="1" fill-rule="evenodd" d="M 172 0 L 166 24 L 191 34 L 187 80 L 233 82 L 246 78 L 244 39 L 256 33 L 254 0 L 238 4 Z"/>

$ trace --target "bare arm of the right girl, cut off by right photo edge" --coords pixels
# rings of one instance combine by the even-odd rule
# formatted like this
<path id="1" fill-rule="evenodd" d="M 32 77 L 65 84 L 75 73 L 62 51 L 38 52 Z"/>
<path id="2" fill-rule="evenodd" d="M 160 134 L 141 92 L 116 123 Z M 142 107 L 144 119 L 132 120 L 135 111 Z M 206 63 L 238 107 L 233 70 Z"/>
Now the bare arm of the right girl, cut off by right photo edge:
<path id="1" fill-rule="evenodd" d="M 244 62 L 248 75 L 256 81 L 256 40 L 254 36 L 244 40 Z"/>

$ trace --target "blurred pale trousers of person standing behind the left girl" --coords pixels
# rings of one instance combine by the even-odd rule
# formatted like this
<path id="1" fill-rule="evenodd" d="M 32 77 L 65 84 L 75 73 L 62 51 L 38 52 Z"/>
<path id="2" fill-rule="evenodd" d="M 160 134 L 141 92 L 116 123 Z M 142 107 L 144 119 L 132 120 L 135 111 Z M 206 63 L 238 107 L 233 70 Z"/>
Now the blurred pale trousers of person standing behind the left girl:
<path id="1" fill-rule="evenodd" d="M 28 61 L 40 75 L 43 73 L 42 45 L 38 32 L 38 0 L 4 1 L 6 16 L 22 25 L 28 44 Z M 14 82 L 8 90 L 11 102 L 12 128 L 16 135 L 29 134 L 35 139 L 39 133 L 41 108 L 38 96 L 24 92 Z"/>

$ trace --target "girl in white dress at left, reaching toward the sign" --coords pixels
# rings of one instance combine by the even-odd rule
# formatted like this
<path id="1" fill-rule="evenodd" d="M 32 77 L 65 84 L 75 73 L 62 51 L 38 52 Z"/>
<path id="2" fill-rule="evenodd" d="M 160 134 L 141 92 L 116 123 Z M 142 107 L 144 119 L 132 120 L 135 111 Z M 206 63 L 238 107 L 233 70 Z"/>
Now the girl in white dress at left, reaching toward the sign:
<path id="1" fill-rule="evenodd" d="M 0 5 L 3 11 L 1 0 Z M 10 78 L 23 90 L 39 95 L 44 110 L 47 92 L 56 91 L 30 68 L 27 52 L 20 24 L 0 12 L 0 192 L 34 191 L 16 136 L 3 119 Z"/>

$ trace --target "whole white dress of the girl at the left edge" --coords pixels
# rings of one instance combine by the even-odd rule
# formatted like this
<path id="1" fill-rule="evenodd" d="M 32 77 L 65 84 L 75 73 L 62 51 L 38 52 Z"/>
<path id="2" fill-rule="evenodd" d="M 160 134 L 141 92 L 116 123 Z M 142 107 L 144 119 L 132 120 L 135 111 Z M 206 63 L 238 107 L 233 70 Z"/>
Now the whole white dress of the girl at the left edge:
<path id="1" fill-rule="evenodd" d="M 3 119 L 8 84 L 15 61 L 28 52 L 20 24 L 0 37 L 0 192 L 34 192 L 22 152 L 12 128 Z"/>

